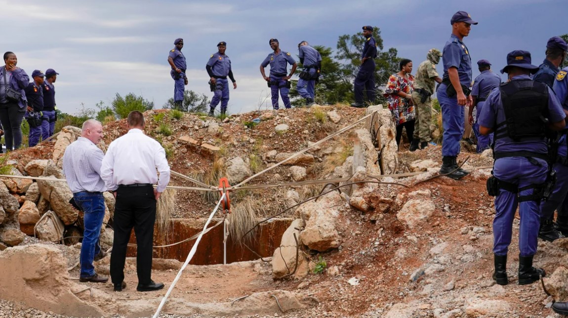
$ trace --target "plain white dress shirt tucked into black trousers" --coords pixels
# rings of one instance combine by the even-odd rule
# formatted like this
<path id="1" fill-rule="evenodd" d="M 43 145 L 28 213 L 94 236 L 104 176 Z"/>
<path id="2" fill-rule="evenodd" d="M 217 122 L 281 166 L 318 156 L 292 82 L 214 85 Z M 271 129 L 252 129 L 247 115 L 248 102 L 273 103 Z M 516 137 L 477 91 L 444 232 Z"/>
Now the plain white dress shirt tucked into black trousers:
<path id="1" fill-rule="evenodd" d="M 111 191 L 119 184 L 157 183 L 157 191 L 164 192 L 170 181 L 170 167 L 161 144 L 134 128 L 110 143 L 103 159 L 101 177 Z"/>

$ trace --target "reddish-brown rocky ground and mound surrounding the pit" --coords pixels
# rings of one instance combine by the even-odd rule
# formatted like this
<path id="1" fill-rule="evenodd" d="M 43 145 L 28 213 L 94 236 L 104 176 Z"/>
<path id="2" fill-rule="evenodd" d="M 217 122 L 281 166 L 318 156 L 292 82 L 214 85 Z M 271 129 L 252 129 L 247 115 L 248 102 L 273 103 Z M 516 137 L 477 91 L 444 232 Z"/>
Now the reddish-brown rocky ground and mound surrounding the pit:
<path id="1" fill-rule="evenodd" d="M 328 111 L 333 111 L 340 119 L 334 122 L 337 118 L 334 119 L 335 115 L 330 115 Z M 173 119 L 158 110 L 146 114 L 147 133 L 160 139 L 170 151 L 172 170 L 213 184 L 214 179 L 208 179 L 204 171 L 222 167 L 221 171 L 228 173 L 231 170 L 229 167 L 233 164 L 239 166 L 242 161 L 244 167 L 233 169 L 235 173 L 232 175 L 235 179 L 241 179 L 242 176 L 237 176 L 236 172 L 245 170 L 244 175 L 250 175 L 260 171 L 278 161 L 275 159 L 278 154 L 298 151 L 310 142 L 318 141 L 356 121 L 364 115 L 364 111 L 345 106 L 327 106 L 284 110 L 277 115 L 272 112 L 241 114 L 223 122 L 188 114 Z M 165 117 L 160 117 L 162 113 L 166 114 Z M 260 118 L 260 124 L 252 124 L 254 118 Z M 173 134 L 166 136 L 158 133 L 161 131 L 160 123 L 165 121 L 171 126 Z M 282 124 L 288 127 L 278 133 L 275 128 Z M 106 144 L 125 131 L 123 121 L 106 126 Z M 306 159 L 308 162 L 277 167 L 253 183 L 341 177 L 345 171 L 350 172 L 353 160 L 357 161 L 351 156 L 354 141 L 359 141 L 361 134 L 361 131 L 356 133 L 353 130 L 340 135 L 318 150 L 308 152 L 312 156 Z M 207 148 L 203 143 L 214 147 Z M 14 160 L 16 166 L 22 167 L 26 173 L 25 167 L 32 159 L 52 159 L 55 144 L 56 141 L 53 141 L 16 151 L 10 154 L 9 159 Z M 271 261 L 268 263 L 251 261 L 228 266 L 189 266 L 174 288 L 171 303 L 161 317 L 559 317 L 550 309 L 552 297 L 545 295 L 539 283 L 526 286 L 516 283 L 518 214 L 509 247 L 509 284 L 498 286 L 491 279 L 494 207 L 485 189 L 490 169 L 474 169 L 490 166 L 491 154 L 478 155 L 463 151 L 458 161 L 467 160 L 463 167 L 474 170 L 463 180 L 456 181 L 434 177 L 441 163 L 439 146 L 416 152 L 408 152 L 407 148 L 408 145 L 403 144 L 398 153 L 397 172 L 423 173 L 381 179 L 402 183 L 402 186 L 361 184 L 361 188 L 353 192 L 346 191 L 342 195 L 332 192 L 317 203 L 304 204 L 297 210 L 283 214 L 282 217 L 297 218 L 298 222 L 305 224 L 305 229 L 300 226 L 297 232 L 303 243 L 300 249 L 302 261 L 298 262 L 298 271 L 292 279 L 274 279 L 279 256 L 276 253 L 272 259 L 268 258 Z M 463 144 L 463 148 L 467 149 L 467 145 Z M 370 149 L 365 151 L 369 152 Z M 237 157 L 242 160 L 235 160 Z M 295 169 L 291 166 L 303 170 L 297 169 L 294 173 Z M 340 167 L 339 170 L 337 167 Z M 368 171 L 369 167 L 367 174 L 370 175 Z M 360 181 L 356 176 L 353 180 Z M 194 186 L 179 177 L 174 177 L 172 184 Z M 298 193 L 298 201 L 319 193 L 321 188 L 322 185 L 242 191 L 235 195 L 235 204 L 246 197 L 255 197 L 266 202 L 265 209 L 258 211 L 259 217 L 266 216 L 277 211 L 279 204 L 286 204 L 287 192 L 293 190 Z M 18 191 L 17 187 L 15 191 Z M 19 196 L 27 195 L 24 192 Z M 358 197 L 362 197 L 362 201 L 356 204 L 354 199 Z M 205 217 L 213 205 L 213 200 L 204 200 L 203 194 L 197 191 L 178 191 L 178 202 L 176 216 L 185 218 Z M 362 207 L 361 204 L 366 205 Z M 313 233 L 310 232 L 315 226 L 310 222 L 319 220 L 316 222 L 319 225 L 327 222 L 321 218 L 320 210 L 332 211 L 325 215 L 332 219 L 330 226 L 335 232 L 331 231 L 331 238 L 325 243 L 312 241 Z M 321 228 L 316 226 L 315 229 Z M 294 229 L 291 231 L 294 232 Z M 26 249 L 26 246 L 37 242 L 37 239 L 27 237 L 19 243 L 18 248 Z M 49 250 L 45 254 L 52 257 L 45 257 L 44 251 L 40 250 L 34 250 L 34 253 L 44 255 L 41 258 L 48 260 L 60 257 L 64 265 L 59 266 L 60 271 L 56 271 L 59 274 L 53 275 L 61 276 L 58 282 L 67 286 L 66 292 L 70 290 L 76 295 L 77 302 L 96 305 L 110 315 L 115 314 L 112 317 L 121 317 L 120 313 L 124 315 L 124 312 L 129 313 L 127 316 L 151 316 L 151 308 L 157 308 L 157 303 L 165 295 L 165 290 L 154 293 L 135 291 L 133 260 L 127 263 L 128 287 L 122 293 L 113 292 L 110 283 L 77 283 L 77 280 L 73 280 L 78 275 L 77 268 L 70 270 L 69 274 L 66 274 L 65 268 L 76 262 L 78 246 L 48 245 L 56 247 L 59 252 Z M 282 246 L 286 254 L 284 249 L 287 245 Z M 546 286 L 558 300 L 568 297 L 568 270 L 562 267 L 568 260 L 567 246 L 568 239 L 554 243 L 540 241 L 534 259 L 535 265 L 546 270 Z M 7 262 L 6 251 L 10 250 L 14 249 L 0 253 L 0 265 Z M 15 257 L 14 251 L 10 253 L 12 258 Z M 57 256 L 58 253 L 61 256 Z M 295 256 L 295 247 L 291 254 Z M 323 271 L 314 274 L 316 265 L 321 265 L 322 260 L 325 261 Z M 59 263 L 54 261 L 53 264 Z M 290 264 L 293 266 L 293 263 L 287 263 L 286 267 Z M 162 281 L 166 283 L 166 288 L 169 287 L 180 265 L 177 261 L 156 261 L 154 280 Z M 285 273 L 290 272 L 286 267 Z M 46 268 L 37 267 L 34 275 L 41 276 L 37 273 Z M 106 274 L 108 258 L 98 263 L 97 270 Z M 3 280 L 8 279 L 5 275 L 2 277 Z M 30 277 L 22 282 L 29 280 Z M 93 294 L 85 290 L 87 287 L 91 288 Z M 32 290 L 24 291 L 33 294 Z M 270 296 L 277 292 L 281 293 L 277 295 L 285 312 L 278 308 L 275 299 Z M 255 296 L 236 300 L 245 295 Z M 18 299 L 12 300 L 0 302 L 0 317 L 66 317 L 56 315 L 53 310 L 41 312 L 32 309 L 34 305 L 29 301 L 21 303 Z M 233 300 L 236 301 L 232 303 Z M 176 315 L 169 315 L 168 312 Z"/>

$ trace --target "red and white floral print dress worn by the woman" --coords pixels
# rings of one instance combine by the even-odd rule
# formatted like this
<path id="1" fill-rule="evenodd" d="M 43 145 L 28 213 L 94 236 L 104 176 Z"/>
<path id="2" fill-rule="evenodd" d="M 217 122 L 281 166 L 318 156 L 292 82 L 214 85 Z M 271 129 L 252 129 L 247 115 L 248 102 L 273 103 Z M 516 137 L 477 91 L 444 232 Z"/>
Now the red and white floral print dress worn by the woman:
<path id="1" fill-rule="evenodd" d="M 413 83 L 414 76 L 411 74 L 408 74 L 406 78 L 393 74 L 389 77 L 389 82 L 387 82 L 383 96 L 389 102 L 389 109 L 396 126 L 408 121 L 414 121 L 416 118 L 414 105 L 412 105 L 410 98 L 403 98 L 397 95 L 399 92 L 404 92 L 410 97 L 412 90 L 414 90 L 412 88 Z"/>

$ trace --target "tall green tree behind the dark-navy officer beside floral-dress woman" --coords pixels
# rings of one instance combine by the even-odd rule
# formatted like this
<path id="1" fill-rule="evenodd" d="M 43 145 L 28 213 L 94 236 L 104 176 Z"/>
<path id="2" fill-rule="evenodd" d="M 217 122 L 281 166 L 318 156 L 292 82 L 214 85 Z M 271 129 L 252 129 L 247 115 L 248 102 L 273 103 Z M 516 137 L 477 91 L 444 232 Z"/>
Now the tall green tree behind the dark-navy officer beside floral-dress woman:
<path id="1" fill-rule="evenodd" d="M 381 30 L 378 27 L 373 28 L 373 37 L 377 42 L 377 58 L 375 63 L 375 83 L 377 85 L 377 102 L 385 102 L 382 97 L 382 92 L 385 88 L 389 76 L 398 72 L 398 63 L 400 58 L 397 57 L 395 48 L 389 48 L 383 51 L 383 39 L 381 38 Z M 358 32 L 353 35 L 341 35 L 337 40 L 336 59 L 343 62 L 341 64 L 341 80 L 346 84 L 351 85 L 351 92 L 353 92 L 353 80 L 357 76 L 357 72 L 361 65 L 361 52 L 365 44 L 365 37 L 363 32 Z"/>

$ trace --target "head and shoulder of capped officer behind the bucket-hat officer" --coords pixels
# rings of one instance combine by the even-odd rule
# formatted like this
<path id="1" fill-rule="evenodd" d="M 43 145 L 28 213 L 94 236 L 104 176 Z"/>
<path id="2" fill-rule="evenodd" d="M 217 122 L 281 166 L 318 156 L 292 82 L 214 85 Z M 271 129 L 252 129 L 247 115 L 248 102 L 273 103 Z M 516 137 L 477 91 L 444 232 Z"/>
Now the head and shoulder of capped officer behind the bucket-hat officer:
<path id="1" fill-rule="evenodd" d="M 552 87 L 554 77 L 560 69 L 564 59 L 566 59 L 566 49 L 568 45 L 559 36 L 553 36 L 546 43 L 546 59 L 538 67 L 538 72 L 533 76 L 534 81 L 538 81 Z"/>

